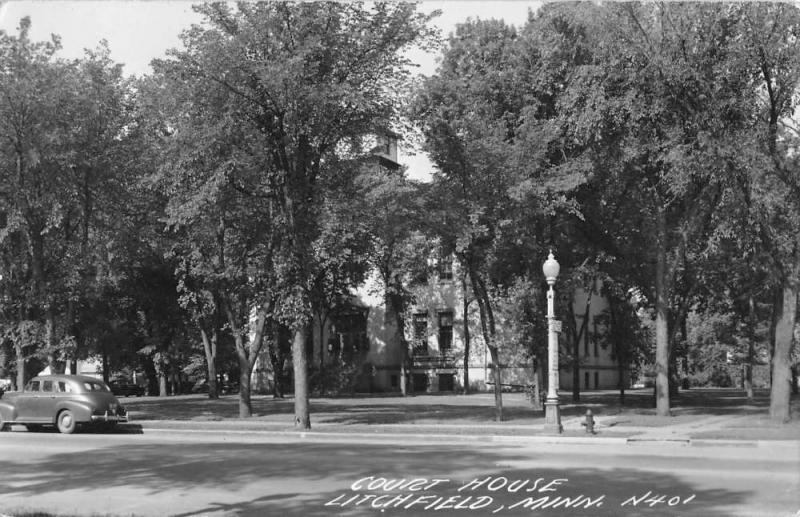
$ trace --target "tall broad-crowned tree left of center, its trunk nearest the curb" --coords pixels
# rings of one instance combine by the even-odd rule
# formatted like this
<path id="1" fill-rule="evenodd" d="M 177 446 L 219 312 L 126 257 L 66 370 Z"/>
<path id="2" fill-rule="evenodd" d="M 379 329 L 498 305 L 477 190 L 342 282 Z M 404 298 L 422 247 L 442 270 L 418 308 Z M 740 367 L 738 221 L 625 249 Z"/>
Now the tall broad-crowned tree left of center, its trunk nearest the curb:
<path id="1" fill-rule="evenodd" d="M 246 307 L 259 308 L 255 340 L 268 316 L 291 328 L 295 423 L 309 428 L 305 342 L 317 272 L 308 257 L 320 231 L 319 201 L 355 172 L 341 165 L 354 150 L 350 144 L 396 118 L 408 75 L 402 51 L 425 43 L 430 17 L 416 14 L 410 4 L 384 3 L 372 9 L 334 2 L 197 9 L 207 25 L 185 32 L 186 50 L 173 52 L 160 66 L 191 85 L 194 97 L 203 98 L 203 91 L 220 96 L 205 106 L 194 102 L 203 133 L 233 136 L 217 149 L 226 160 L 207 159 L 219 166 L 220 180 L 230 178 L 231 189 L 251 198 L 230 213 L 231 221 L 244 222 L 247 211 L 261 210 L 274 236 L 268 260 L 262 255 L 254 270 L 268 279 L 260 296 L 248 300 L 246 289 L 237 291 L 241 296 L 235 304 L 229 300 L 225 312 L 241 338 L 237 342 L 243 342 L 248 324 Z M 183 154 L 196 149 L 190 145 Z M 248 181 L 240 184 L 236 176 L 244 171 Z"/>

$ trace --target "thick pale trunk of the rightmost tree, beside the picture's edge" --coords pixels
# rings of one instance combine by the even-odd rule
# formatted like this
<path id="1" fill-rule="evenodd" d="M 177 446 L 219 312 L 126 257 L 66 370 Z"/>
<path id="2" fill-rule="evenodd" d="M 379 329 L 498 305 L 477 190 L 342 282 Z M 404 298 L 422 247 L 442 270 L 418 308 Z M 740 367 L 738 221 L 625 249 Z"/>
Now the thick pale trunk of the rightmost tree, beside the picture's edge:
<path id="1" fill-rule="evenodd" d="M 769 394 L 769 416 L 778 422 L 791 419 L 791 351 L 800 288 L 785 282 L 782 295 L 776 298 L 775 353 L 772 355 L 772 387 Z"/>

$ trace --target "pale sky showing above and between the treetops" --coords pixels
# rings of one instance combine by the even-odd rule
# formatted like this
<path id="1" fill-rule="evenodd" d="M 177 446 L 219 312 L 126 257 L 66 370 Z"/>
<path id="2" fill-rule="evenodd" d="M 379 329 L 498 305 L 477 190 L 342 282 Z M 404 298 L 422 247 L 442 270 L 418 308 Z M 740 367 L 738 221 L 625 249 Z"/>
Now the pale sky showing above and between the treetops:
<path id="1" fill-rule="evenodd" d="M 447 35 L 467 18 L 501 18 L 521 26 L 528 10 L 540 5 L 524 0 L 423 0 L 419 8 L 423 12 L 441 10 L 434 23 Z M 111 57 L 124 64 L 125 73 L 140 76 L 149 73 L 152 59 L 180 47 L 181 31 L 200 21 L 191 6 L 192 2 L 183 0 L 0 0 L 0 30 L 16 34 L 19 20 L 30 16 L 31 38 L 48 40 L 51 34 L 58 34 L 63 47 L 59 55 L 67 59 L 81 57 L 84 49 L 95 48 L 105 39 Z M 435 73 L 434 54 L 417 52 L 412 59 L 419 64 L 418 73 Z M 400 162 L 418 179 L 429 177 L 433 167 L 424 155 L 403 145 Z"/>

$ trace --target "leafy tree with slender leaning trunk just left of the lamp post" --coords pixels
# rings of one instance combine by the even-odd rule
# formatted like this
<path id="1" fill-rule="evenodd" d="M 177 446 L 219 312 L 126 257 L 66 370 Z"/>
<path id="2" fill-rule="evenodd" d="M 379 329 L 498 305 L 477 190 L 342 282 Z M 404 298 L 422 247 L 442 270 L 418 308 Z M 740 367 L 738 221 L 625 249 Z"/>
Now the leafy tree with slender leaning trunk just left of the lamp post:
<path id="1" fill-rule="evenodd" d="M 440 212 L 449 212 L 438 216 L 444 242 L 469 275 L 495 366 L 489 292 L 515 277 L 540 278 L 537 258 L 561 230 L 555 215 L 576 210 L 567 194 L 587 174 L 568 159 L 571 140 L 556 110 L 569 71 L 585 54 L 564 48 L 564 39 L 574 43 L 580 34 L 543 40 L 538 29 L 518 34 L 496 20 L 458 26 L 415 110 L 425 147 L 441 171 L 434 196 L 447 209 Z M 502 418 L 499 368 L 493 374 Z"/>

